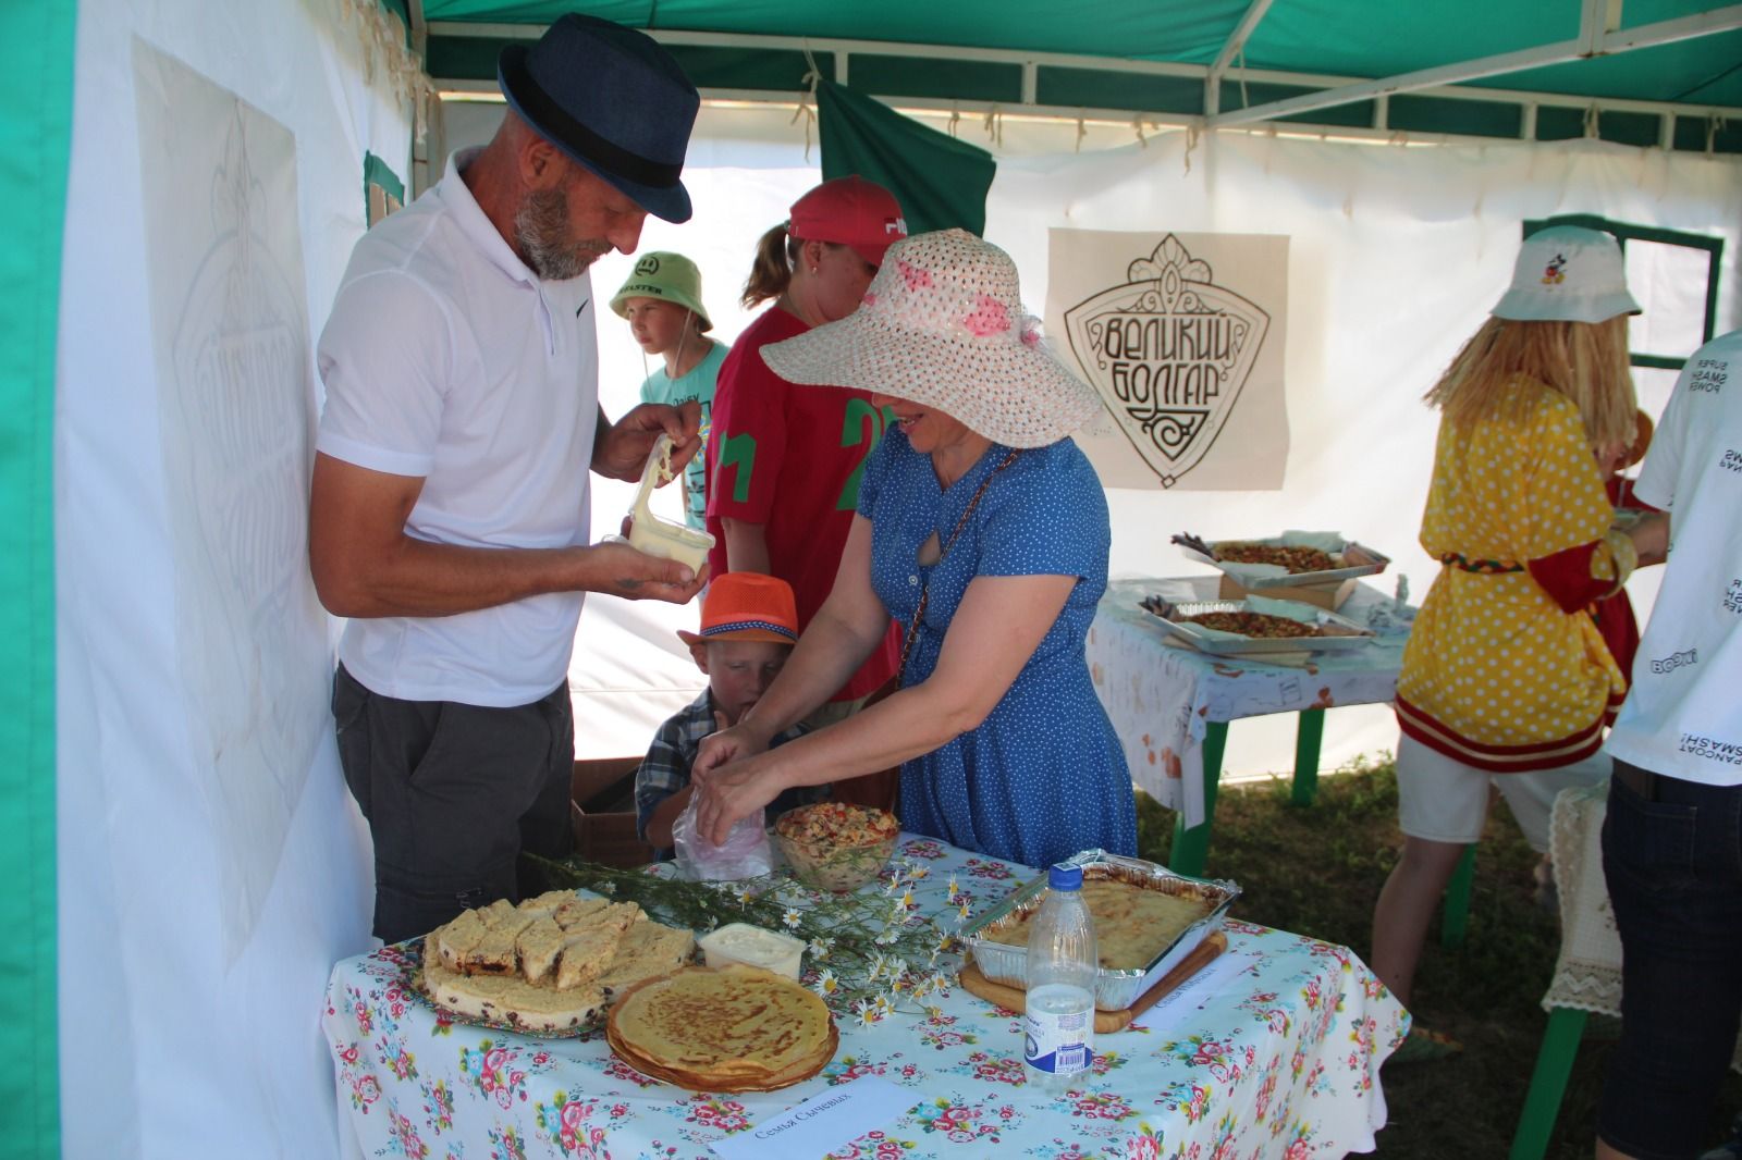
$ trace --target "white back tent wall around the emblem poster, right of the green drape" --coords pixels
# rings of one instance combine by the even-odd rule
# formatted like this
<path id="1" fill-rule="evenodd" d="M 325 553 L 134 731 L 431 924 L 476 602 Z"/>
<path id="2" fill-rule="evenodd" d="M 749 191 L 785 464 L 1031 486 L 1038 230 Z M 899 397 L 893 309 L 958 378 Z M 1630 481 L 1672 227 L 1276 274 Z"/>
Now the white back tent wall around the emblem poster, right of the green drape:
<path id="1" fill-rule="evenodd" d="M 1002 158 L 986 235 L 1016 258 L 1031 307 L 1043 300 L 1052 228 L 1287 235 L 1284 488 L 1115 489 L 1111 568 L 1202 571 L 1167 542 L 1176 531 L 1336 529 L 1390 554 L 1380 582 L 1406 575 L 1420 601 L 1437 571 L 1416 543 L 1437 428 L 1421 394 L 1510 279 L 1521 223 L 1568 212 L 1723 237 L 1718 331 L 1742 324 L 1742 164 L 1601 141 L 1399 146 L 1223 132 L 1188 158 L 1186 134 L 1174 132 L 1096 155 Z M 1678 287 L 1634 289 L 1646 303 L 1686 301 Z M 1636 378 L 1655 416 L 1674 376 Z M 1629 590 L 1643 622 L 1657 573 L 1643 570 Z M 1242 721 L 1223 768 L 1293 768 L 1293 728 L 1291 718 Z M 1326 716 L 1322 763 L 1395 740 L 1387 707 L 1341 709 Z"/>

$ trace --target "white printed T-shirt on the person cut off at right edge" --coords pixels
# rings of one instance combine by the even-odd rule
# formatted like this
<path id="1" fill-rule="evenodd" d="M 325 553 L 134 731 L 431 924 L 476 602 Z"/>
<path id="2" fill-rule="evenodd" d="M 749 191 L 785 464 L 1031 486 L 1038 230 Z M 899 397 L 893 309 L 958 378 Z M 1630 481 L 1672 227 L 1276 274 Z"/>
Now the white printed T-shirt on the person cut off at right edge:
<path id="1" fill-rule="evenodd" d="M 1700 347 L 1664 409 L 1636 493 L 1672 554 L 1608 751 L 1643 770 L 1742 784 L 1742 331 Z"/>

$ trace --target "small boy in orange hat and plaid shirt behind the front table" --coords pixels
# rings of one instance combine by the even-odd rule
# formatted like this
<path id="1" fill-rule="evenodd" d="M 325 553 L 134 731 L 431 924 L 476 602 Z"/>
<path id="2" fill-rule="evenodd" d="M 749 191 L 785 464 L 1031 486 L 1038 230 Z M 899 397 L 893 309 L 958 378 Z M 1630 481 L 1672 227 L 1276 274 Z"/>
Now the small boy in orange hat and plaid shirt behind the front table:
<path id="1" fill-rule="evenodd" d="M 660 860 L 672 857 L 671 826 L 690 803 L 690 765 L 702 738 L 739 723 L 761 700 L 798 641 L 798 603 L 793 585 L 779 577 L 730 571 L 714 578 L 702 597 L 702 631 L 678 636 L 690 646 L 707 688 L 653 735 L 648 756 L 636 770 L 636 831 Z M 773 738 L 800 737 L 794 726 Z M 827 798 L 827 786 L 787 791 L 770 808 Z"/>

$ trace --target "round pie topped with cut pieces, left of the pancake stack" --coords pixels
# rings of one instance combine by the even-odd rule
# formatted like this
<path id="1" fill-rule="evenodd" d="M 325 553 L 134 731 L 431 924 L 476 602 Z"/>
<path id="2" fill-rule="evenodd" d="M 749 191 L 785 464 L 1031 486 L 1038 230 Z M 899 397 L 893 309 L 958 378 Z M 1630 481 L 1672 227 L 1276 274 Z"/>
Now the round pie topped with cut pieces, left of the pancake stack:
<path id="1" fill-rule="evenodd" d="M 496 900 L 429 935 L 423 989 L 448 1010 L 524 1031 L 580 1028 L 610 995 L 690 961 L 695 935 L 634 902 L 552 890 Z"/>

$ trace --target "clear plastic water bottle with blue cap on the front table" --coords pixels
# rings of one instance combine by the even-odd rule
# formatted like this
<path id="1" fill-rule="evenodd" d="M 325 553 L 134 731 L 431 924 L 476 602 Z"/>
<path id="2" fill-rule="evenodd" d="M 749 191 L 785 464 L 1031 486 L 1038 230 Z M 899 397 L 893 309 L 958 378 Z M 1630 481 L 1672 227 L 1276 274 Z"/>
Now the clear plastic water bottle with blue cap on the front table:
<path id="1" fill-rule="evenodd" d="M 1084 902 L 1084 871 L 1047 871 L 1047 897 L 1028 930 L 1028 996 L 1023 1062 L 1028 1083 L 1047 1096 L 1082 1087 L 1094 1061 L 1094 984 L 1099 967 L 1094 920 Z"/>

